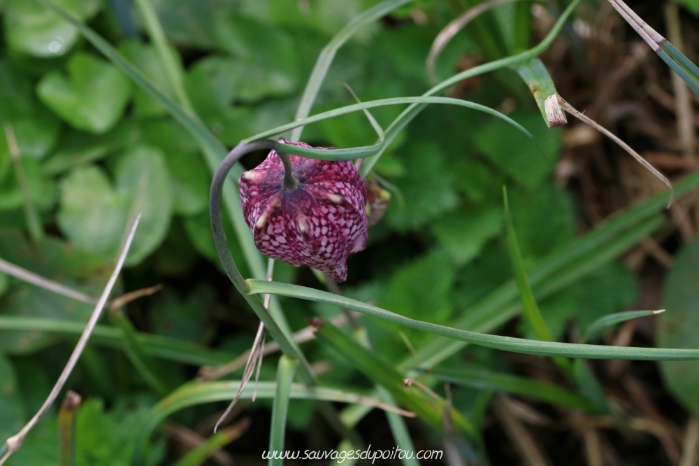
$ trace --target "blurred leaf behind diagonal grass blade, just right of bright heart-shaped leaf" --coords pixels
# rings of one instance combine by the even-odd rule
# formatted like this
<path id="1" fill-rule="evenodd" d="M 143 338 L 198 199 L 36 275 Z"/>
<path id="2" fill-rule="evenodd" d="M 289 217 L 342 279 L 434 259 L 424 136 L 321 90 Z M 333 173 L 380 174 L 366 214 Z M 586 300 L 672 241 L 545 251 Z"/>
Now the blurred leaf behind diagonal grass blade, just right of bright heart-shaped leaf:
<path id="1" fill-rule="evenodd" d="M 119 51 L 122 52 L 129 62 L 138 66 L 138 69 L 143 71 L 145 76 L 150 78 L 162 92 L 172 95 L 169 81 L 165 76 L 165 70 L 152 45 L 146 45 L 134 38 L 120 43 Z M 172 50 L 172 52 L 175 51 Z M 167 110 L 145 92 L 145 90 L 140 87 L 135 87 L 134 113 L 139 116 L 158 116 L 166 115 Z"/>

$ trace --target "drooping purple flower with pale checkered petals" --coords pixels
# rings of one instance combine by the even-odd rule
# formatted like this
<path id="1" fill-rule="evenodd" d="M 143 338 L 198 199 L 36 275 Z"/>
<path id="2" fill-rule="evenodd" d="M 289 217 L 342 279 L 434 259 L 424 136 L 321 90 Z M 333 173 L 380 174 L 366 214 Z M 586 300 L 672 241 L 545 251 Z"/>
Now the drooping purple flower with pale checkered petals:
<path id="1" fill-rule="evenodd" d="M 298 181 L 293 188 L 284 186 L 284 166 L 274 150 L 240 176 L 240 204 L 255 245 L 275 260 L 305 264 L 345 281 L 347 256 L 366 246 L 366 187 L 359 171 L 349 161 L 291 154 L 289 160 Z"/>

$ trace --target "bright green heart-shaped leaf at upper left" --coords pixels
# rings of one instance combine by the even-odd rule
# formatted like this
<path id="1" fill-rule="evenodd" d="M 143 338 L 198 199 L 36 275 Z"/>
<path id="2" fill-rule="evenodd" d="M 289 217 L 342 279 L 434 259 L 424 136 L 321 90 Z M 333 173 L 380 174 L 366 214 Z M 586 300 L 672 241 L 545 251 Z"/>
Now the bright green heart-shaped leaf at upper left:
<path id="1" fill-rule="evenodd" d="M 43 8 L 43 7 L 39 7 Z M 101 134 L 116 125 L 131 97 L 131 83 L 113 64 L 78 52 L 68 76 L 50 71 L 36 92 L 52 111 L 76 129 Z"/>

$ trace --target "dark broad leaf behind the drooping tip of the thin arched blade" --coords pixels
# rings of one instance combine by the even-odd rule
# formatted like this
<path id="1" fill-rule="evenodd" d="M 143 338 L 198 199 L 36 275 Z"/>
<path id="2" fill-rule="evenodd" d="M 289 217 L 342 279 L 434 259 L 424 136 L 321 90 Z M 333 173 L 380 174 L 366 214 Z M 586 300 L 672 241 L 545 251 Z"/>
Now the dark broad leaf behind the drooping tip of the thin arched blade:
<path id="1" fill-rule="evenodd" d="M 534 135 L 543 155 L 524 136 L 512 132 L 505 122 L 497 119 L 483 125 L 475 133 L 473 141 L 477 150 L 518 183 L 528 189 L 536 188 L 559 158 L 561 132 L 559 129 L 548 129 L 537 113 L 515 111 L 510 116 Z M 507 137 L 503 137 L 503 134 L 507 134 Z"/>

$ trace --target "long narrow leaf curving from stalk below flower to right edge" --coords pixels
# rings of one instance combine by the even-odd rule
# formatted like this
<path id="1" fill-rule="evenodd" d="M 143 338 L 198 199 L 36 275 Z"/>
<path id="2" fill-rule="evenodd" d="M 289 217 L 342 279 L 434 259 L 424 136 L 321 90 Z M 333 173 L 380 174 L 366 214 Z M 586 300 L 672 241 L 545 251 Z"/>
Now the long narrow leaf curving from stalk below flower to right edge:
<path id="1" fill-rule="evenodd" d="M 486 348 L 513 351 L 514 353 L 540 356 L 561 356 L 564 358 L 585 359 L 628 359 L 628 360 L 699 360 L 699 349 L 670 349 L 670 348 L 631 348 L 628 346 L 604 346 L 573 343 L 558 343 L 552 341 L 528 340 L 523 338 L 503 337 L 477 332 L 468 332 L 444 325 L 411 319 L 400 314 L 381 309 L 344 296 L 314 290 L 305 286 L 289 285 L 275 281 L 247 280 L 248 293 L 273 294 L 288 297 L 308 299 L 309 301 L 334 304 L 352 309 L 368 316 L 382 318 L 392 323 L 405 325 L 423 332 L 433 333 L 442 337 L 465 341 L 466 343 L 485 346 Z"/>

